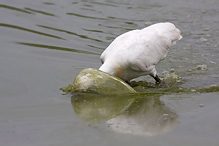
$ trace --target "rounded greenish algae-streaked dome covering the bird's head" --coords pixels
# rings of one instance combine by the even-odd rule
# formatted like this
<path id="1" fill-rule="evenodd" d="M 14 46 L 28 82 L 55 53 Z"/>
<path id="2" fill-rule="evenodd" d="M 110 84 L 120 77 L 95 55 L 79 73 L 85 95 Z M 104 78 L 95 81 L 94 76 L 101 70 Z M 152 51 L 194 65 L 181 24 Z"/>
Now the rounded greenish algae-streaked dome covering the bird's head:
<path id="1" fill-rule="evenodd" d="M 129 94 L 136 91 L 123 80 L 94 68 L 83 69 L 75 78 L 71 92 Z"/>

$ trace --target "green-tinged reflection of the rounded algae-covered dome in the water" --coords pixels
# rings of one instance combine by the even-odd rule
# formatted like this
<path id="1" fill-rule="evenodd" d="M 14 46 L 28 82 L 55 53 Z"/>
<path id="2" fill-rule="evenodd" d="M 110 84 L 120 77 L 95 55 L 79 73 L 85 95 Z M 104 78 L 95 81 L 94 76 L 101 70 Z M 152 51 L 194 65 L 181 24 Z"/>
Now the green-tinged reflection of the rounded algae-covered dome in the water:
<path id="1" fill-rule="evenodd" d="M 75 94 L 71 98 L 75 113 L 88 123 L 98 123 L 122 114 L 135 101 L 132 95 Z"/>

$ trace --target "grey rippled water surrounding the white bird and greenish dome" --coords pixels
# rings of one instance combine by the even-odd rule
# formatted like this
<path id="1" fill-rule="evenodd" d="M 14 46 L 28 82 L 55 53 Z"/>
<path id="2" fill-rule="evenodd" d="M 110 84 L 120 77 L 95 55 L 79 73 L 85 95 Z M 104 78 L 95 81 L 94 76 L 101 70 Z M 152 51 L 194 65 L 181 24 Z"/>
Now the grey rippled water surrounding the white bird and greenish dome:
<path id="1" fill-rule="evenodd" d="M 1 145 L 218 145 L 218 7 L 217 0 L 2 0 Z M 99 55 L 116 36 L 164 21 L 184 38 L 157 70 L 174 70 L 181 81 L 171 89 L 150 77 L 133 84 L 170 94 L 61 95 L 83 68 L 100 66 Z M 105 117 L 91 116 L 96 121 L 89 124 L 86 109 Z"/>

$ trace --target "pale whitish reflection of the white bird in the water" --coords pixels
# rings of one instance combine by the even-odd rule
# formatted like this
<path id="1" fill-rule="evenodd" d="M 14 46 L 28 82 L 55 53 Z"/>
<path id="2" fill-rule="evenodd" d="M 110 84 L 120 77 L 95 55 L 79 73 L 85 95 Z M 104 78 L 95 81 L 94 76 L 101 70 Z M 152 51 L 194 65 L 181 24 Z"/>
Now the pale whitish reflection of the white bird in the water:
<path id="1" fill-rule="evenodd" d="M 179 119 L 160 101 L 159 96 L 144 96 L 107 123 L 116 132 L 148 136 L 170 131 L 179 125 Z"/>

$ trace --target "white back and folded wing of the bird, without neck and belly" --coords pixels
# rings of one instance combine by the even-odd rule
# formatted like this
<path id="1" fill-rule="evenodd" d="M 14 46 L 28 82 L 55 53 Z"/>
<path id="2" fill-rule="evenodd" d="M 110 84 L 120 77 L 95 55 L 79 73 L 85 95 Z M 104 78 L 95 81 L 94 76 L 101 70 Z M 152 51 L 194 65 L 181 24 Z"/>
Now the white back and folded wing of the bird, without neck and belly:
<path id="1" fill-rule="evenodd" d="M 114 60 L 136 71 L 147 71 L 166 57 L 168 48 L 181 39 L 172 23 L 158 23 L 118 36 L 102 53 L 101 60 Z"/>

